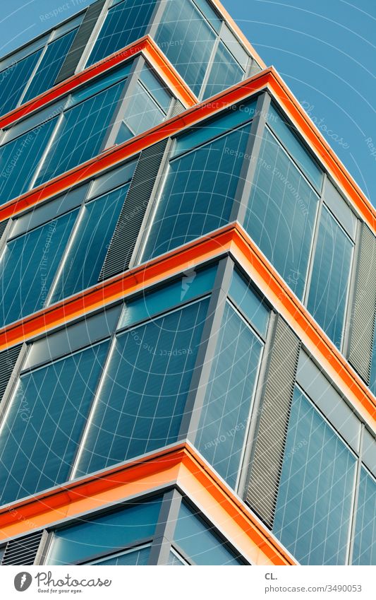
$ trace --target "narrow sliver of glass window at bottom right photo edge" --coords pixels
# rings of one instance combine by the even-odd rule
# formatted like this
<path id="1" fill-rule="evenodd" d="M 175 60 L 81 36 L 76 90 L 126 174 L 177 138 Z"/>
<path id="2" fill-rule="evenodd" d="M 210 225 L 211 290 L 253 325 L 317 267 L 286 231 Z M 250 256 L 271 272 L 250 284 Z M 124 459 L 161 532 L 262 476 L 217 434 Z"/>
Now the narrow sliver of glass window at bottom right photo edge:
<path id="1" fill-rule="evenodd" d="M 358 507 L 353 546 L 353 565 L 376 565 L 376 481 L 360 470 Z"/>

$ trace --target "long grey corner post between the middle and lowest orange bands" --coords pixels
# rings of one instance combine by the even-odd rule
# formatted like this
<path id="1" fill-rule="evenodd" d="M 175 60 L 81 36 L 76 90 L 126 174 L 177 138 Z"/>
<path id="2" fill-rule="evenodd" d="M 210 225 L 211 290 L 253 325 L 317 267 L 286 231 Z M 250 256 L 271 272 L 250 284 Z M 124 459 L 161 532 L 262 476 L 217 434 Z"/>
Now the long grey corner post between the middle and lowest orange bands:
<path id="1" fill-rule="evenodd" d="M 212 370 L 212 360 L 221 333 L 226 298 L 229 293 L 233 271 L 234 262 L 230 257 L 225 257 L 219 261 L 217 276 L 207 309 L 207 318 L 190 381 L 186 409 L 181 420 L 178 441 L 188 439 L 193 444 L 195 442 L 207 383 Z"/>

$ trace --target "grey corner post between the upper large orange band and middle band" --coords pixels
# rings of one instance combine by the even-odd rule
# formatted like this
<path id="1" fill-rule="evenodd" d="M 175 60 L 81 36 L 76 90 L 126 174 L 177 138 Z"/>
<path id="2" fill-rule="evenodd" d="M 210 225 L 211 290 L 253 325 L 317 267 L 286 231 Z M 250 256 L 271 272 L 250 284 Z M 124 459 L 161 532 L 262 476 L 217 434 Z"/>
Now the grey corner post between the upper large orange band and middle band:
<path id="1" fill-rule="evenodd" d="M 245 149 L 243 164 L 241 166 L 241 173 L 231 211 L 230 223 L 234 220 L 243 223 L 245 219 L 245 212 L 247 210 L 253 179 L 255 177 L 257 158 L 260 153 L 262 134 L 265 129 L 270 101 L 271 98 L 267 92 L 260 94 L 257 98 L 255 115 L 250 127 L 250 136 Z"/>

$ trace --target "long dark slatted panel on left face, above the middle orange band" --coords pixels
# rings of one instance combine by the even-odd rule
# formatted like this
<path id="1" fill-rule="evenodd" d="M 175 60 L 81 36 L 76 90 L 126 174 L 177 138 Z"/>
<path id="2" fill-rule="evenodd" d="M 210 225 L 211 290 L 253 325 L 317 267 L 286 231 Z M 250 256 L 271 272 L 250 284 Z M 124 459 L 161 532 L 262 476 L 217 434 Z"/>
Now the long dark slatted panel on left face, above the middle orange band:
<path id="1" fill-rule="evenodd" d="M 99 281 L 128 269 L 166 145 L 167 140 L 159 141 L 154 146 L 145 148 L 140 154 Z"/>

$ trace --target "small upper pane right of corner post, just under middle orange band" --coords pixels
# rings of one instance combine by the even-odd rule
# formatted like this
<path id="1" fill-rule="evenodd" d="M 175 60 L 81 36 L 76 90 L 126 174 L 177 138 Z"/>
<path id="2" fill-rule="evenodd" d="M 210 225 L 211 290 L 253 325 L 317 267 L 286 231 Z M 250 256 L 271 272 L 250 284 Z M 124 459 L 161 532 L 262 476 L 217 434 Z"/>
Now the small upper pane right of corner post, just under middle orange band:
<path id="1" fill-rule="evenodd" d="M 253 326 L 265 337 L 269 322 L 269 310 L 260 297 L 237 271 L 234 271 L 229 296 L 248 317 Z"/>

